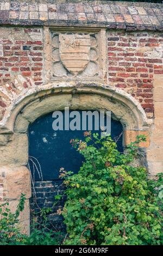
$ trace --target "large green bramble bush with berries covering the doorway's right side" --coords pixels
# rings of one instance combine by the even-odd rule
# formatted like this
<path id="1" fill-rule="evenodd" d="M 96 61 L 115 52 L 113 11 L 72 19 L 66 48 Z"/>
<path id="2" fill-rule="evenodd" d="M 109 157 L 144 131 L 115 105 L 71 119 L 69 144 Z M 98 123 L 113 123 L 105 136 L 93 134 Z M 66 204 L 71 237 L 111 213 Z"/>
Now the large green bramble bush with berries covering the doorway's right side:
<path id="1" fill-rule="evenodd" d="M 67 196 L 58 211 L 67 227 L 64 244 L 161 245 L 163 176 L 150 180 L 145 167 L 133 164 L 146 138 L 120 153 L 111 137 L 84 135 L 84 141 L 71 140 L 85 158 L 78 174 L 60 169 Z"/>

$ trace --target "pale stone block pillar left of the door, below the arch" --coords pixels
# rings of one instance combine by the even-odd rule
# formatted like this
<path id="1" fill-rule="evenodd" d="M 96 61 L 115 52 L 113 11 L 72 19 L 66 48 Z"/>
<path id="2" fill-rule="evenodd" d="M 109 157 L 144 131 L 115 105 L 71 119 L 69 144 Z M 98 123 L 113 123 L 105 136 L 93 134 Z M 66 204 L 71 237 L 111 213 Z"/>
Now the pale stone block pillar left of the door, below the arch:
<path id="1" fill-rule="evenodd" d="M 26 197 L 24 210 L 20 213 L 20 230 L 30 234 L 31 197 L 30 173 L 26 167 L 28 161 L 27 135 L 0 135 L 0 204 L 9 202 L 11 212 L 15 212 L 21 194 Z"/>

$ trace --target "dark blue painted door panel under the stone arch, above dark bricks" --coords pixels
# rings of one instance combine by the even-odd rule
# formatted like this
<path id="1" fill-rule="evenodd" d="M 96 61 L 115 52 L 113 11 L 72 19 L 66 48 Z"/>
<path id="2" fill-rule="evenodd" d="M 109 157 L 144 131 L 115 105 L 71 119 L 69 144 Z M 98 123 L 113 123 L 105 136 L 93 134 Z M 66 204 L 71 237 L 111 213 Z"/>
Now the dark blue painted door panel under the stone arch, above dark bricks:
<path id="1" fill-rule="evenodd" d="M 30 169 L 33 171 L 35 165 L 38 170 L 41 168 L 43 180 L 57 180 L 60 167 L 77 173 L 83 161 L 82 155 L 71 147 L 70 140 L 83 139 L 84 131 L 54 131 L 53 121 L 52 113 L 49 113 L 31 124 L 28 131 L 29 156 L 32 160 L 29 161 Z M 111 119 L 111 137 L 118 137 L 121 132 L 121 123 Z M 117 145 L 118 150 L 122 151 L 122 136 Z M 40 176 L 35 168 L 35 181 L 37 180 L 40 180 Z"/>

